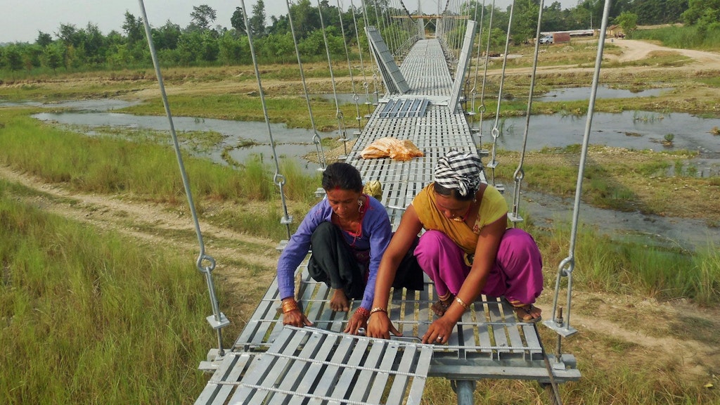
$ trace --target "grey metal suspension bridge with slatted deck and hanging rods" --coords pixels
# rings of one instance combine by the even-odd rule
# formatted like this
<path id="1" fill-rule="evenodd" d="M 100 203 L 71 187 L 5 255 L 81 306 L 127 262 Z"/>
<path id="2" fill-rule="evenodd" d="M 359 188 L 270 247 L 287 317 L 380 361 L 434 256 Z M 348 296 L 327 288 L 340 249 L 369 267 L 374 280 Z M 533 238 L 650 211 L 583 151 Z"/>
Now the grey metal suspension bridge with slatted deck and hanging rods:
<path id="1" fill-rule="evenodd" d="M 402 5 L 402 2 L 400 4 Z M 147 22 L 143 0 L 140 0 L 140 6 L 143 9 L 143 20 Z M 457 10 L 446 9 L 444 15 L 449 18 L 437 19 L 436 37 L 432 38 L 425 37 L 423 19 L 410 16 L 404 5 L 397 7 L 395 9 L 397 14 L 388 16 L 385 20 L 388 25 L 397 25 L 394 30 L 365 25 L 364 34 L 369 42 L 369 59 L 374 61 L 374 68 L 377 69 L 375 75 L 382 79 L 384 95 L 379 97 L 379 91 L 376 91 L 375 110 L 365 117 L 366 124 L 355 134 L 356 143 L 342 159 L 356 166 L 364 181 L 377 180 L 382 184 L 382 197 L 379 200 L 386 206 L 394 227 L 400 223 L 403 210 L 415 194 L 432 182 L 433 168 L 438 158 L 450 150 L 467 151 L 489 157 L 490 162 L 485 166 L 492 170 L 491 181 L 495 184 L 494 169 L 498 164 L 495 144 L 492 144 L 491 151 L 482 149 L 481 125 L 476 127 L 468 121 L 468 117 L 480 114 L 480 123 L 482 123 L 482 113 L 485 112 L 482 96 L 479 100 L 480 107 L 477 109 L 475 107 L 479 76 L 477 63 L 474 65 L 474 80 L 470 77 L 473 70 L 470 63 L 472 54 L 477 52 L 477 59 L 480 60 L 482 41 L 477 40 L 478 45 L 475 48 L 476 32 L 485 32 L 485 30 L 482 26 L 477 27 L 477 15 L 458 18 L 462 16 L 462 13 L 458 12 L 462 7 L 459 4 L 456 6 L 458 6 Z M 246 9 L 244 4 L 242 8 Z M 542 3 L 540 9 L 542 10 Z M 364 10 L 367 10 L 365 6 Z M 485 8 L 483 7 L 482 10 L 484 12 Z M 320 17 L 322 19 L 322 16 Z M 480 21 L 482 22 L 482 15 Z M 541 12 L 539 21 L 541 21 Z M 512 18 L 508 26 L 511 22 Z M 292 28 L 292 18 L 290 24 Z M 606 19 L 603 21 L 603 27 L 605 25 Z M 147 23 L 145 29 L 149 34 L 150 27 Z M 394 36 L 386 42 L 381 35 L 383 31 L 392 32 Z M 463 35 L 457 35 L 458 32 L 462 32 Z M 490 32 L 489 28 L 487 32 Z M 539 35 L 539 25 L 537 34 Z M 600 37 L 600 44 L 603 43 L 603 36 Z M 252 38 L 250 41 L 253 61 L 256 61 L 252 50 Z M 153 44 L 151 41 L 149 43 L 172 129 L 172 117 L 167 108 L 161 71 L 158 68 Z M 505 46 L 508 46 L 507 42 Z M 598 48 L 598 67 L 595 71 L 593 92 L 597 87 L 602 54 L 602 46 Z M 329 59 L 328 53 L 332 76 L 332 63 Z M 302 76 L 299 53 L 298 63 Z M 485 66 L 487 68 L 487 63 Z M 258 89 L 264 101 L 257 63 L 255 67 Z M 504 69 L 503 63 L 503 76 Z M 481 94 L 484 93 L 486 76 L 483 75 Z M 472 89 L 469 88 L 469 84 L 472 84 Z M 304 79 L 303 86 L 307 96 Z M 534 75 L 531 88 L 533 86 Z M 364 81 L 362 87 L 369 99 L 369 84 Z M 333 79 L 333 91 L 335 88 Z M 500 81 L 498 113 L 495 117 L 499 115 L 502 89 L 503 82 Z M 354 85 L 353 91 L 356 91 Z M 470 99 L 463 94 L 470 94 Z M 578 172 L 578 188 L 582 185 L 580 179 L 587 153 L 594 98 L 593 94 L 590 99 L 588 128 Z M 358 112 L 357 119 L 360 121 L 363 117 L 360 116 L 360 107 L 357 104 L 359 97 L 355 95 L 354 99 Z M 528 97 L 528 125 L 531 99 L 532 89 Z M 264 109 L 266 109 L 265 105 L 263 102 Z M 469 106 L 469 110 L 465 110 L 464 106 Z M 312 120 L 309 101 L 308 110 Z M 268 111 L 265 112 L 268 117 Z M 497 138 L 497 118 L 495 119 L 495 127 L 490 134 L 493 140 Z M 338 107 L 339 120 L 341 113 Z M 314 126 L 314 123 L 312 125 Z M 526 125 L 526 140 L 528 125 Z M 338 128 L 343 141 L 348 141 L 341 123 L 338 124 Z M 175 138 L 174 130 L 171 132 Z M 272 140 L 270 130 L 269 136 Z M 317 133 L 315 137 L 319 138 Z M 385 137 L 411 141 L 423 151 L 424 156 L 410 161 L 363 159 L 360 156 L 366 146 Z M 318 139 L 315 141 L 318 145 L 320 169 L 323 169 L 324 153 Z M 177 143 L 176 151 L 179 153 Z M 274 161 L 277 162 L 277 156 L 275 158 Z M 192 208 L 192 190 L 187 186 L 180 157 L 179 163 Z M 513 226 L 522 221 L 518 214 L 522 178 L 521 158 L 513 187 L 513 207 L 508 213 Z M 274 181 L 280 187 L 282 195 L 284 177 L 279 173 L 278 166 Z M 482 181 L 488 182 L 485 174 L 482 174 Z M 495 185 L 500 190 L 504 189 L 501 184 Z M 215 298 L 212 282 L 215 261 L 204 252 L 202 233 L 193 210 L 200 244 L 197 267 L 207 280 L 213 310 L 207 321 L 217 331 L 218 342 L 218 347 L 211 349 L 207 360 L 200 364 L 200 369 L 212 373 L 212 376 L 199 394 L 196 404 L 420 404 L 429 377 L 451 380 L 458 404 L 461 405 L 474 404 L 475 381 L 488 378 L 535 380 L 547 388 L 552 403 L 560 404 L 558 385 L 580 379 L 575 357 L 572 354 L 562 353 L 561 345 L 563 337 L 575 333 L 575 329 L 570 326 L 570 296 L 578 203 L 579 198 L 576 197 L 570 255 L 559 264 L 553 308 L 547 308 L 544 312 L 546 318 L 543 324 L 557 332 L 554 353 L 545 350 L 537 324 L 519 321 L 506 301 L 484 295 L 469 306 L 469 311 L 464 313 L 462 320 L 456 324 L 448 344 L 422 344 L 419 337 L 425 334 L 433 321 L 431 305 L 438 299 L 434 296 L 433 285 L 427 277 L 424 290 L 396 289 L 391 293 L 387 308 L 390 319 L 398 326 L 402 337 L 384 340 L 343 334 L 348 316 L 360 303 L 354 302 L 349 312 L 336 312 L 330 309 L 330 289 L 324 283 L 312 280 L 307 272 L 310 252 L 305 262 L 297 269 L 295 298 L 314 325 L 305 328 L 283 326 L 282 316 L 278 311 L 280 297 L 275 280 L 261 298 L 251 319 L 240 336 L 235 339 L 233 346 L 224 348 L 221 330 L 230 321 L 220 311 Z M 289 236 L 289 224 L 292 223 L 292 218 L 287 214 L 287 207 L 281 223 L 287 227 Z M 564 287 L 567 290 L 567 302 L 564 306 L 559 303 L 562 277 L 568 279 Z"/>

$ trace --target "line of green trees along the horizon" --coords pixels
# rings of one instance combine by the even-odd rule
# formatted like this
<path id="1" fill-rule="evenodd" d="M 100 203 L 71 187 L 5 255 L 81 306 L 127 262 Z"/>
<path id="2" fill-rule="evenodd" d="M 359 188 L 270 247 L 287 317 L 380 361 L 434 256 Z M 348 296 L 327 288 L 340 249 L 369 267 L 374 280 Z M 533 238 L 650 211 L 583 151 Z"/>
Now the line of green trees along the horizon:
<path id="1" fill-rule="evenodd" d="M 617 0 L 611 6 L 611 22 L 618 22 L 631 29 L 633 25 L 652 25 L 667 22 L 685 22 L 700 25 L 707 30 L 717 29 L 720 21 L 720 5 L 705 0 Z M 214 25 L 217 12 L 207 4 L 193 6 L 191 22 L 180 27 L 168 20 L 161 27 L 152 27 L 153 42 L 158 57 L 165 66 L 213 66 L 240 65 L 251 63 L 248 34 L 258 60 L 262 63 L 288 63 L 296 60 L 294 30 L 297 48 L 302 55 L 325 55 L 325 39 L 328 51 L 333 57 L 345 58 L 346 48 L 364 46 L 365 24 L 391 30 L 384 24 L 376 6 L 387 4 L 387 0 L 366 1 L 366 9 L 341 10 L 328 3 L 312 6 L 310 0 L 292 4 L 289 13 L 279 17 L 266 18 L 263 0 L 253 5 L 246 13 L 240 7 L 230 18 L 229 27 Z M 541 30 L 580 30 L 598 28 L 603 14 L 603 0 L 582 0 L 572 9 L 562 9 L 554 1 L 543 10 Z M 490 27 L 492 11 L 492 32 L 498 48 L 505 42 L 505 33 L 510 18 L 510 7 L 501 10 L 482 5 L 476 0 L 467 1 L 463 11 L 470 16 L 484 16 L 483 26 Z M 386 7 L 387 9 L 387 7 Z M 395 10 L 403 14 L 401 10 Z M 536 32 L 539 0 L 516 0 L 513 10 L 513 25 L 510 33 L 516 42 L 534 37 Z M 320 19 L 322 12 L 322 20 Z M 413 12 L 410 14 L 416 14 Z M 248 27 L 243 14 L 248 14 Z M 389 13 L 392 14 L 392 11 Z M 405 13 L 406 14 L 406 13 Z M 292 30 L 290 25 L 292 19 Z M 321 24 L 324 22 L 324 24 Z M 359 35 L 355 35 L 356 24 Z M 323 35 L 322 26 L 325 26 Z M 249 29 L 249 33 L 248 33 Z M 342 31 L 345 35 L 343 36 Z M 431 21 L 426 30 L 434 30 Z M 460 30 L 460 28 L 458 28 Z M 497 34 L 497 35 L 495 35 Z M 485 40 L 487 35 L 480 35 Z M 361 44 L 358 44 L 358 39 Z M 304 56 L 305 57 L 305 56 Z M 352 56 L 351 56 L 352 57 Z M 83 71 L 90 69 L 145 68 L 151 66 L 150 52 L 145 41 L 145 26 L 140 17 L 125 12 L 122 32 L 111 31 L 104 35 L 97 25 L 88 23 L 84 28 L 72 24 L 60 24 L 57 32 L 38 31 L 35 43 L 12 43 L 0 48 L 1 71 L 36 71 L 49 69 L 57 71 Z"/>

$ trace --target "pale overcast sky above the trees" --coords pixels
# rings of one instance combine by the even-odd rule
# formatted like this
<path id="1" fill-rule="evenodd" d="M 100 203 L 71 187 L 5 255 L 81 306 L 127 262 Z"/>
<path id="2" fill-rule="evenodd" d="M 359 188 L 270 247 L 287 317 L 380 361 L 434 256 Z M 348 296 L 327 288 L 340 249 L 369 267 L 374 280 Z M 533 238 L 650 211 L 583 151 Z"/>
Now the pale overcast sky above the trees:
<path id="1" fill-rule="evenodd" d="M 268 18 L 271 15 L 287 14 L 285 0 L 264 0 Z M 418 8 L 418 0 L 403 0 L 410 11 Z M 436 12 L 436 0 L 421 0 L 423 12 Z M 495 0 L 495 6 L 505 9 L 511 0 Z M 230 27 L 230 17 L 235 7 L 241 6 L 240 0 L 144 0 L 148 21 L 153 27 L 161 27 L 168 21 L 181 27 L 190 22 L 190 13 L 193 6 L 207 4 L 217 12 L 215 25 Z M 338 0 L 329 0 L 336 6 Z M 482 1 L 480 1 L 482 3 Z M 564 8 L 575 6 L 577 0 L 561 0 Z M 116 30 L 122 33 L 122 23 L 125 21 L 125 12 L 140 17 L 140 2 L 137 0 L 2 0 L 3 12 L 0 13 L 0 43 L 29 42 L 34 43 L 37 32 L 42 31 L 56 39 L 60 24 L 72 24 L 76 28 L 85 28 L 89 22 L 97 25 L 100 31 L 107 35 Z M 256 0 L 246 0 L 248 11 L 252 10 Z M 441 1 L 445 5 L 445 1 Z M 546 0 L 549 5 L 551 0 Z M 317 6 L 318 0 L 310 0 L 310 4 Z M 348 9 L 350 0 L 341 0 L 341 7 Z M 354 0 L 357 7 L 361 0 Z M 486 0 L 485 4 L 492 4 Z"/>

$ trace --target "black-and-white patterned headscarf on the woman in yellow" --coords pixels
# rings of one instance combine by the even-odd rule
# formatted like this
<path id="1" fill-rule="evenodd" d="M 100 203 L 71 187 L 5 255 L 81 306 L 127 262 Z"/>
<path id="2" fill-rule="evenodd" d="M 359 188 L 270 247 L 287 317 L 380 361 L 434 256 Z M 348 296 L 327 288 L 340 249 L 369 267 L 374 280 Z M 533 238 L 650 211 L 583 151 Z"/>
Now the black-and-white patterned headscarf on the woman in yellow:
<path id="1" fill-rule="evenodd" d="M 435 182 L 447 189 L 457 190 L 457 193 L 464 197 L 477 191 L 481 170 L 482 161 L 476 154 L 449 151 L 438 159 Z"/>

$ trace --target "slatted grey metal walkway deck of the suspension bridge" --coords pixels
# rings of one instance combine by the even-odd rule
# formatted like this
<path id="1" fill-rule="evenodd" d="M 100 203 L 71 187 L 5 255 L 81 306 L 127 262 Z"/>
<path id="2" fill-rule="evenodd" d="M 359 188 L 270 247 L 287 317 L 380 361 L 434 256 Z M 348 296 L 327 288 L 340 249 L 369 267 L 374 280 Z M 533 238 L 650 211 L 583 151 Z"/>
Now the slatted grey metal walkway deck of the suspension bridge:
<path id="1" fill-rule="evenodd" d="M 404 208 L 415 194 L 432 181 L 433 168 L 438 157 L 453 148 L 460 151 L 477 151 L 464 115 L 454 113 L 454 109 L 443 102 L 450 97 L 452 81 L 439 43 L 436 40 L 418 42 L 410 55 L 405 58 L 401 71 L 413 90 L 409 94 L 381 100 L 346 160 L 359 169 L 365 181 L 379 180 L 382 183 L 382 203 L 386 205 L 390 221 L 395 227 L 400 223 Z M 385 103 L 396 99 L 418 97 L 430 101 L 422 117 L 381 117 Z M 392 161 L 387 158 L 366 160 L 360 157 L 360 151 L 365 146 L 387 136 L 412 141 L 425 153 L 425 156 L 411 161 Z M 391 369 L 393 373 L 407 377 L 408 381 L 397 376 L 390 378 L 392 383 L 395 383 L 395 380 L 404 382 L 399 387 L 394 386 L 388 390 L 401 393 L 401 397 L 405 398 L 405 402 L 402 403 L 405 404 L 419 403 L 420 396 L 417 393 L 418 390 L 422 391 L 426 376 L 441 376 L 451 380 L 512 378 L 538 380 L 541 383 L 550 382 L 536 327 L 518 321 L 509 304 L 500 298 L 483 296 L 482 301 L 472 303 L 470 310 L 457 324 L 448 344 L 438 346 L 420 344 L 418 337 L 423 336 L 433 321 L 430 306 L 437 300 L 433 285 L 427 279 L 423 291 L 392 292 L 388 306 L 390 319 L 402 331 L 403 338 L 391 342 L 376 341 L 378 343 L 368 345 L 364 343 L 365 340 L 372 339 L 344 335 L 353 342 L 349 347 L 353 347 L 354 350 L 347 352 L 343 349 L 343 342 L 346 341 L 330 342 L 324 339 L 323 342 L 327 346 L 319 350 L 323 353 L 323 358 L 341 358 L 346 365 L 355 369 L 350 372 L 341 371 L 340 365 L 331 360 L 318 362 L 315 359 L 318 357 L 318 350 L 312 351 L 310 355 L 305 350 L 307 342 L 310 341 L 306 334 L 338 335 L 346 325 L 348 313 L 330 310 L 330 290 L 325 284 L 315 282 L 309 277 L 307 259 L 298 269 L 297 281 L 299 302 L 308 319 L 314 322 L 315 328 L 301 333 L 300 329 L 282 326 L 282 318 L 277 311 L 280 301 L 277 285 L 274 282 L 238 337 L 232 352 L 220 363 L 207 388 L 197 400 L 197 404 L 224 404 L 228 399 L 233 404 L 264 403 L 246 402 L 246 399 L 251 397 L 251 391 L 252 395 L 261 391 L 265 400 L 271 403 L 277 401 L 281 404 L 305 403 L 308 398 L 312 399 L 311 404 L 326 403 L 323 401 L 329 396 L 336 400 L 341 399 L 340 402 L 345 404 L 389 404 L 390 399 L 387 394 L 373 396 L 373 401 L 370 401 L 369 396 L 356 396 L 352 392 L 352 387 L 362 381 L 387 382 L 389 381 L 387 373 Z M 356 301 L 350 314 L 357 306 L 359 302 Z M 395 342 L 400 342 L 397 343 L 398 348 L 389 347 L 389 345 L 395 347 L 393 346 L 396 345 Z M 289 347 L 289 352 L 292 352 L 291 355 L 286 355 L 287 362 L 269 360 L 269 357 L 276 357 L 269 354 L 276 352 L 275 347 L 278 345 L 282 345 L 286 350 Z M 372 347 L 375 346 L 382 347 L 381 352 L 384 354 L 372 354 L 374 353 Z M 313 344 L 312 347 L 319 346 Z M 366 352 L 366 355 L 358 358 L 377 357 L 378 364 L 368 367 L 353 363 L 352 359 L 355 358 L 353 356 L 358 347 L 361 348 L 359 349 L 361 352 Z M 403 362 L 402 356 L 387 357 L 385 350 L 391 349 L 395 352 L 407 351 L 419 355 L 415 360 Z M 338 353 L 342 354 L 337 357 Z M 331 356 L 333 354 L 336 356 Z M 379 365 L 380 360 L 385 357 L 390 358 L 387 361 L 393 363 L 392 367 Z M 292 360 L 292 365 L 289 360 Z M 562 355 L 562 359 L 549 355 L 549 360 L 553 365 L 552 373 L 556 382 L 580 378 L 580 372 L 575 368 L 575 358 L 572 355 Z M 252 362 L 256 362 L 255 365 L 258 366 L 256 369 L 262 371 L 253 372 Z M 300 362 L 300 365 L 297 362 Z M 267 367 L 262 368 L 259 366 L 261 363 L 265 363 Z M 308 370 L 320 369 L 323 373 L 313 374 L 315 377 L 300 380 L 299 376 L 305 375 Z M 290 370 L 295 371 L 291 373 Z M 298 373 L 298 370 L 302 371 Z M 343 381 L 341 378 L 346 378 L 343 376 L 347 373 L 352 375 L 348 380 L 352 383 L 346 381 L 346 387 L 340 391 L 329 393 L 323 386 L 323 382 L 327 383 L 328 378 L 334 385 L 341 385 Z M 263 387 L 258 383 L 256 377 L 250 378 L 251 375 L 258 374 L 266 375 L 266 380 L 269 380 L 266 386 Z M 380 378 L 383 375 L 386 380 Z M 248 383 L 248 380 L 252 380 L 253 383 Z M 286 380 L 292 380 L 292 383 L 287 383 Z M 391 382 L 387 384 L 390 386 Z M 277 388 L 279 386 L 284 386 L 287 390 L 279 390 Z M 374 388 L 368 388 L 371 389 Z"/>

